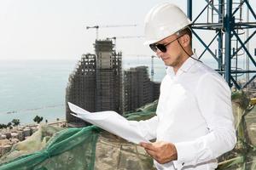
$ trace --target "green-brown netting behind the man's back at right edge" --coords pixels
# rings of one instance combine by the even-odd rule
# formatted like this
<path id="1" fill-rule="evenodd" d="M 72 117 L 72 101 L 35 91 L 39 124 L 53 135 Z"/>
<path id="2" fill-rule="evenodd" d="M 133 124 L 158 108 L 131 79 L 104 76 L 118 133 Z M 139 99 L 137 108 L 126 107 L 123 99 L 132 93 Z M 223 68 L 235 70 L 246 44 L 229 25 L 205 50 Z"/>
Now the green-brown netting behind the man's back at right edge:
<path id="1" fill-rule="evenodd" d="M 256 107 L 242 91 L 232 94 L 237 143 L 218 158 L 218 170 L 256 170 Z"/>

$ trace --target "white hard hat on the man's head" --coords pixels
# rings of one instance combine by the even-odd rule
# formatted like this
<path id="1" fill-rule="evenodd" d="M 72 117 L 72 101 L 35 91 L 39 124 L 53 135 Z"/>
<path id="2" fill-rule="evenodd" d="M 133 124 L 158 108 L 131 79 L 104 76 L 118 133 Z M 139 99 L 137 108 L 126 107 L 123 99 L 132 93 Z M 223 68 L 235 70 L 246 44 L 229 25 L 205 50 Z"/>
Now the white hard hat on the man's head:
<path id="1" fill-rule="evenodd" d="M 148 12 L 144 22 L 144 44 L 159 42 L 191 24 L 186 14 L 172 3 L 156 5 Z"/>

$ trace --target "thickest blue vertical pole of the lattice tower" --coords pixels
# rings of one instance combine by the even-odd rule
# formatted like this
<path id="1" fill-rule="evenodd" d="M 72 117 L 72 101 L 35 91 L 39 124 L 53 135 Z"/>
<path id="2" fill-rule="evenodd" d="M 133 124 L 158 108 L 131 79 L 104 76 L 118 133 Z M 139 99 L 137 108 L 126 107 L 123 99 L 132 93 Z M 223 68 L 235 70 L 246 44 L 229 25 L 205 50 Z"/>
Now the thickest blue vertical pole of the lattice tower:
<path id="1" fill-rule="evenodd" d="M 225 80 L 228 82 L 230 87 L 232 86 L 230 82 L 230 70 L 231 70 L 231 31 L 233 31 L 234 22 L 232 18 L 232 0 L 227 0 L 226 15 L 224 20 L 224 30 L 225 30 Z"/>

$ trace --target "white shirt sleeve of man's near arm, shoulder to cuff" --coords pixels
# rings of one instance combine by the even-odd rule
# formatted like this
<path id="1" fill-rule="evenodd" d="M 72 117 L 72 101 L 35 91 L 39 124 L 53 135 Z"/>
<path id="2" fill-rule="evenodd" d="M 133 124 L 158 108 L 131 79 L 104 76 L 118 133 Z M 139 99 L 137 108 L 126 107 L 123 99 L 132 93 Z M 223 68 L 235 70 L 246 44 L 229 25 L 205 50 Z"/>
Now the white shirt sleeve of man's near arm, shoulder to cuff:
<path id="1" fill-rule="evenodd" d="M 174 164 L 177 169 L 212 161 L 232 150 L 236 144 L 231 92 L 223 77 L 214 73 L 204 75 L 196 93 L 198 107 L 209 131 L 199 139 L 175 144 L 177 161 Z"/>

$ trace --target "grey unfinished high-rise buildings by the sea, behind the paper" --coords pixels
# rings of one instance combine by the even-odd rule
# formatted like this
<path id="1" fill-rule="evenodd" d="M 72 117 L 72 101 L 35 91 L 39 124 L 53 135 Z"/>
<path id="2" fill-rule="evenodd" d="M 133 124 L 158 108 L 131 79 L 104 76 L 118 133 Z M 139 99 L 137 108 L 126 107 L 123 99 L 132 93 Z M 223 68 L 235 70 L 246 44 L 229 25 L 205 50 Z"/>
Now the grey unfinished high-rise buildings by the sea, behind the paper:
<path id="1" fill-rule="evenodd" d="M 123 71 L 122 54 L 114 45 L 111 39 L 96 40 L 96 54 L 82 55 L 68 79 L 67 102 L 91 112 L 116 111 L 123 115 L 159 98 L 160 82 L 150 81 L 148 67 Z M 67 102 L 68 126 L 86 126 L 86 122 L 70 115 Z"/>

